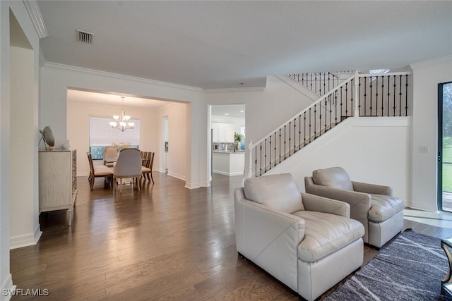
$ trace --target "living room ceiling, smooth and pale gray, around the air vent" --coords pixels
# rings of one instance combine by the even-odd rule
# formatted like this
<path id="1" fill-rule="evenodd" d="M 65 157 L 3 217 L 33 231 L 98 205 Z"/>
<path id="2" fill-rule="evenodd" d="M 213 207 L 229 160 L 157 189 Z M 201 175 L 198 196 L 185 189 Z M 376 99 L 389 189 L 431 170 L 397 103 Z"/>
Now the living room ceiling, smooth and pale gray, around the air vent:
<path id="1" fill-rule="evenodd" d="M 452 54 L 452 1 L 38 1 L 47 61 L 203 89 Z M 76 40 L 93 33 L 93 44 Z"/>

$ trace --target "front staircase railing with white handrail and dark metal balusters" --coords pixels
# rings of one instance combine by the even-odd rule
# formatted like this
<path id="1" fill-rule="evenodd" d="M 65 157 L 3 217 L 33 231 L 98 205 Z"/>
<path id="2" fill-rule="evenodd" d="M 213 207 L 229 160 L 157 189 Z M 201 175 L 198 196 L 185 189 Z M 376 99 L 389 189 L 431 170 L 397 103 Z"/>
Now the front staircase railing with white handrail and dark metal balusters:
<path id="1" fill-rule="evenodd" d="M 247 176 L 262 176 L 348 117 L 408 116 L 409 81 L 408 72 L 356 72 L 258 142 L 250 142 Z"/>

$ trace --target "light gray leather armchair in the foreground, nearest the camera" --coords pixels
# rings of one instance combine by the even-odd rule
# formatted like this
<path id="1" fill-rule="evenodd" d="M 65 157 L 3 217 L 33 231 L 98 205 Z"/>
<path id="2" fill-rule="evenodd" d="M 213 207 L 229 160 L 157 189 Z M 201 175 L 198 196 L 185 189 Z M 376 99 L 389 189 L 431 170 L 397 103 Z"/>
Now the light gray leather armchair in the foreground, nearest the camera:
<path id="1" fill-rule="evenodd" d="M 362 265 L 364 227 L 350 205 L 300 193 L 290 173 L 244 180 L 234 213 L 239 254 L 307 300 Z"/>

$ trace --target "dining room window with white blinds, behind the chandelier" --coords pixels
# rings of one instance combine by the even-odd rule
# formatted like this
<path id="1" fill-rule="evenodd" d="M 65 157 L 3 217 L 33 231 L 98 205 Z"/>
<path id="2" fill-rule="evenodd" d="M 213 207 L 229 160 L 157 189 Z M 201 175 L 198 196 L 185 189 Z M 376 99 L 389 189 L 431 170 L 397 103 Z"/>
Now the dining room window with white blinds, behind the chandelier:
<path id="1" fill-rule="evenodd" d="M 135 123 L 135 128 L 118 130 L 112 128 L 109 122 L 112 118 L 90 117 L 90 153 L 93 160 L 103 159 L 104 149 L 109 145 L 118 145 L 119 147 L 135 147 L 140 145 L 140 121 L 131 119 Z"/>

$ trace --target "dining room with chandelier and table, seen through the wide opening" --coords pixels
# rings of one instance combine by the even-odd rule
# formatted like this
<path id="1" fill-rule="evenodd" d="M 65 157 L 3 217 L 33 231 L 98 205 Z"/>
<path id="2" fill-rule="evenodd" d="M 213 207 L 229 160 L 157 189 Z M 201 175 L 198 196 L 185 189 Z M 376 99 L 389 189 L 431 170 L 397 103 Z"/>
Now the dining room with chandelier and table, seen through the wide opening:
<path id="1" fill-rule="evenodd" d="M 185 103 L 68 89 L 66 106 L 70 149 L 78 151 L 76 173 L 88 177 L 91 190 L 121 191 L 126 185 L 138 190 L 138 176 L 141 183 L 152 185 L 153 173 L 159 172 L 185 179 Z M 126 153 L 139 163 L 133 172 L 128 170 L 133 168 Z"/>

